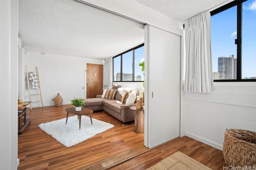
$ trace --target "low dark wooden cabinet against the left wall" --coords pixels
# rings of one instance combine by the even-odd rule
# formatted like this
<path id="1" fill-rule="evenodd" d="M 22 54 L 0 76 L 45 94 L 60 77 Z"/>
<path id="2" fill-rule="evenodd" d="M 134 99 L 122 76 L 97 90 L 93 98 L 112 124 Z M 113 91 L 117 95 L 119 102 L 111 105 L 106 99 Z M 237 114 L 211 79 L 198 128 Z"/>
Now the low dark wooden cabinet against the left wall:
<path id="1" fill-rule="evenodd" d="M 25 102 L 24 106 L 18 107 L 18 135 L 24 131 L 28 123 L 31 121 L 30 113 L 27 112 L 27 106 L 30 103 L 31 102 Z"/>

